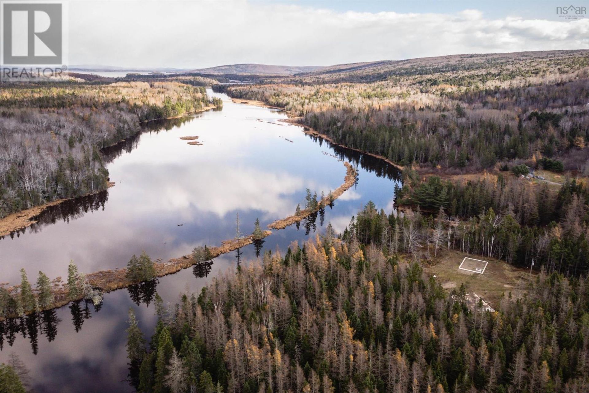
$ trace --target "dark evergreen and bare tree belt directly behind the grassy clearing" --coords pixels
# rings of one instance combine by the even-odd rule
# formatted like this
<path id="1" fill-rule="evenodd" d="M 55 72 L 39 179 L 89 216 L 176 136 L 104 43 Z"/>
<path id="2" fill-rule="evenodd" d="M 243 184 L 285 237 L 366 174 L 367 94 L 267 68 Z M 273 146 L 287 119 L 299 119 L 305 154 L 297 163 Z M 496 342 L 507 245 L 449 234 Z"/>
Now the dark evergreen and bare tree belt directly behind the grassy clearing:
<path id="1" fill-rule="evenodd" d="M 429 257 L 456 249 L 516 266 L 589 273 L 589 190 L 567 180 L 558 193 L 506 174 L 478 180 L 426 181 L 405 178 L 396 190 L 399 214 L 388 216 L 368 203 L 345 237 L 391 252 Z M 413 212 L 411 209 L 416 209 Z"/>

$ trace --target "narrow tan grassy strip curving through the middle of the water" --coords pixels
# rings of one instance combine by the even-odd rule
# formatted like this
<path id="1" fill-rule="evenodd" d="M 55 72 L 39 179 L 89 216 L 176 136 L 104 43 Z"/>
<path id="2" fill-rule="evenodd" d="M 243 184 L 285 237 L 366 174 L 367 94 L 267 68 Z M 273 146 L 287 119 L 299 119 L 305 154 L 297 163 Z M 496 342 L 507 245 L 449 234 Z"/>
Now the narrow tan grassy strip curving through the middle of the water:
<path id="1" fill-rule="evenodd" d="M 333 202 L 337 199 L 337 197 L 341 196 L 344 191 L 348 190 L 350 187 L 353 186 L 356 180 L 356 171 L 354 170 L 352 164 L 348 163 L 347 161 L 344 162 L 344 166 L 346 167 L 346 176 L 344 177 L 344 183 L 337 187 L 335 191 L 324 197 L 320 202 L 317 204 L 317 208 L 315 210 L 306 209 L 302 210 L 301 214 L 298 216 L 296 214 L 292 216 L 287 216 L 284 219 L 279 219 L 270 223 L 268 225 L 269 228 L 273 228 L 275 230 L 284 229 L 289 225 L 292 225 L 296 222 L 301 222 L 306 217 L 310 216 L 310 214 L 319 212 L 320 209 L 323 209 L 325 206 L 329 205 L 329 203 Z M 59 203 L 64 202 L 67 199 L 61 200 Z M 56 203 L 57 204 L 57 203 Z M 211 259 L 229 253 L 231 251 L 237 250 L 241 247 L 248 246 L 254 242 L 254 240 L 260 240 L 264 237 L 272 235 L 274 232 L 272 230 L 265 230 L 263 236 L 257 237 L 254 239 L 253 235 L 248 235 L 241 237 L 240 239 L 227 239 L 222 240 L 220 246 L 213 246 L 207 247 L 209 249 Z M 167 275 L 171 275 L 174 273 L 179 272 L 180 270 L 187 269 L 188 267 L 197 265 L 199 262 L 195 262 L 192 255 L 184 255 L 177 258 L 168 259 L 167 262 L 154 262 L 155 267 L 155 278 L 164 277 Z M 117 289 L 124 289 L 128 288 L 132 285 L 137 285 L 140 282 L 130 282 L 126 278 L 127 268 L 116 268 L 114 270 L 99 270 L 98 272 L 86 273 L 85 277 L 87 279 L 87 283 L 92 286 L 94 289 L 100 290 L 102 295 L 104 293 L 112 292 Z M 154 278 L 154 279 L 155 279 Z M 18 288 L 18 285 L 13 285 L 10 288 Z M 54 295 L 54 303 L 51 307 L 40 309 L 38 311 L 49 311 L 52 309 L 61 308 L 65 305 L 68 305 L 71 302 L 77 302 L 81 300 L 88 300 L 85 296 L 80 296 L 76 299 L 68 298 L 67 296 L 68 289 L 64 285 L 60 286 L 59 288 L 54 288 L 53 295 Z M 37 295 L 37 294 L 36 294 Z M 32 313 L 38 312 L 25 312 L 24 315 L 30 315 Z M 24 316 L 22 315 L 22 316 Z M 19 318 L 20 315 L 11 315 L 8 318 Z M 0 318 L 0 321 L 4 321 L 6 318 Z"/>

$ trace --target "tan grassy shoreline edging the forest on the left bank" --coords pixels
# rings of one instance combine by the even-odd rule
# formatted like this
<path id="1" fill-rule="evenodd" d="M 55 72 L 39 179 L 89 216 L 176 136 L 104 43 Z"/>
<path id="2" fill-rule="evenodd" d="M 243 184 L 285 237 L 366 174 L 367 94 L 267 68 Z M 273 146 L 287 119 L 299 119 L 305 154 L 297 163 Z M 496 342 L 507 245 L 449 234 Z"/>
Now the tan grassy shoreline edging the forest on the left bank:
<path id="1" fill-rule="evenodd" d="M 200 108 L 197 111 L 194 111 L 194 112 L 191 112 L 188 114 L 184 114 L 181 116 L 167 117 L 167 118 L 161 118 L 161 119 L 152 119 L 152 120 L 147 120 L 147 121 L 140 121 L 139 123 L 144 124 L 144 123 L 148 123 L 150 121 L 155 121 L 155 120 L 171 120 L 174 118 L 180 118 L 180 117 L 190 116 L 190 115 L 193 115 L 196 113 L 205 112 L 205 111 L 211 110 L 213 108 L 216 108 L 216 106 L 215 105 L 207 105 L 206 107 Z M 140 134 L 141 132 L 142 131 L 139 130 L 137 134 Z M 135 136 L 137 134 L 134 134 L 133 136 Z M 133 137 L 133 136 L 130 136 L 130 137 Z M 123 139 L 123 140 L 120 140 L 116 143 L 110 144 L 108 146 L 101 147 L 101 149 L 117 146 L 118 144 L 123 143 L 125 140 L 126 139 Z M 107 186 L 104 188 L 104 190 L 108 190 L 111 187 L 114 187 L 114 185 L 115 185 L 115 182 L 109 180 L 109 181 L 107 181 Z M 97 191 L 94 191 L 91 193 L 87 193 L 84 195 L 75 196 L 75 197 L 71 197 L 71 198 L 56 199 L 56 200 L 52 200 L 51 202 L 39 204 L 38 206 L 30 207 L 29 209 L 24 209 L 24 210 L 20 210 L 19 212 L 8 214 L 8 216 L 0 218 L 0 239 L 2 239 L 5 236 L 11 235 L 11 233 L 16 233 L 19 230 L 26 229 L 29 226 L 36 224 L 38 222 L 38 220 L 34 220 L 34 218 L 36 216 L 38 216 L 39 214 L 43 213 L 45 210 L 47 210 L 51 206 L 56 206 L 58 204 L 66 202 L 68 200 L 73 200 L 76 198 L 85 197 L 85 196 L 89 196 L 92 194 L 97 194 L 97 193 L 100 193 L 104 190 L 97 190 Z"/>

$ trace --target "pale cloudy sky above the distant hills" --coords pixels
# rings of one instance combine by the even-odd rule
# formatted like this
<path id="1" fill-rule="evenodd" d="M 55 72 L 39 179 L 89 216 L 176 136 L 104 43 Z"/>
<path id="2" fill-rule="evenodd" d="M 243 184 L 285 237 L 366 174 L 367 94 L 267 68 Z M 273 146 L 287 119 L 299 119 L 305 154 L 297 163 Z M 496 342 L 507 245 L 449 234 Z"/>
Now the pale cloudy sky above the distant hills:
<path id="1" fill-rule="evenodd" d="M 567 3 L 568 4 L 568 3 Z M 528 0 L 71 0 L 71 65 L 333 65 L 589 48 L 589 15 Z M 586 6 L 589 1 L 573 0 Z"/>

